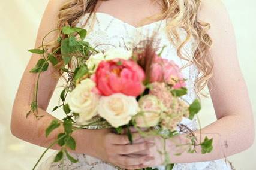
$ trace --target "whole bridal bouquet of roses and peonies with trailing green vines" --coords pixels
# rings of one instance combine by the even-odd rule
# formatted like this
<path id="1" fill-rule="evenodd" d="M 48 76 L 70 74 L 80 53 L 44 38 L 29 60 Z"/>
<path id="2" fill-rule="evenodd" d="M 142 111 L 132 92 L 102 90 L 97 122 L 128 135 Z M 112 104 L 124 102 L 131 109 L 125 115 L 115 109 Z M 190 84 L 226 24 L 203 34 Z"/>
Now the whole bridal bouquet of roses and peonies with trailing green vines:
<path id="1" fill-rule="evenodd" d="M 198 99 L 188 104 L 181 98 L 187 89 L 179 66 L 173 60 L 163 59 L 161 52 L 157 54 L 152 41 L 147 40 L 133 50 L 111 48 L 97 51 L 84 41 L 85 29 L 66 26 L 62 28 L 62 34 L 65 37 L 58 38 L 60 47 L 52 53 L 44 45 L 43 49 L 29 50 L 43 56 L 31 70 L 38 73 L 38 79 L 41 72 L 47 70 L 49 62 L 54 66 L 61 63 L 59 69 L 68 74 L 67 86 L 60 96 L 62 104 L 53 109 L 62 107 L 66 116 L 62 122 L 53 120 L 46 129 L 46 136 L 49 136 L 54 129 L 64 126 L 64 132 L 59 133 L 58 139 L 50 145 L 62 147 L 55 162 L 62 160 L 65 154 L 76 163 L 77 160 L 67 151 L 67 148 L 76 150 L 76 141 L 71 134 L 77 129 L 100 125 L 112 128 L 116 133 L 127 130 L 131 144 L 131 127 L 144 137 L 154 135 L 169 139 L 179 135 L 179 126 L 179 130 L 191 139 L 189 153 L 195 152 L 195 145 L 201 145 L 202 153 L 212 151 L 212 139 L 205 138 L 196 144 L 192 130 L 179 124 L 183 117 L 193 119 L 201 105 Z M 61 60 L 56 57 L 58 52 Z M 35 93 L 38 82 L 36 85 Z M 40 117 L 36 97 L 28 115 L 31 113 Z M 167 157 L 165 164 L 171 167 L 167 151 L 164 154 Z"/>

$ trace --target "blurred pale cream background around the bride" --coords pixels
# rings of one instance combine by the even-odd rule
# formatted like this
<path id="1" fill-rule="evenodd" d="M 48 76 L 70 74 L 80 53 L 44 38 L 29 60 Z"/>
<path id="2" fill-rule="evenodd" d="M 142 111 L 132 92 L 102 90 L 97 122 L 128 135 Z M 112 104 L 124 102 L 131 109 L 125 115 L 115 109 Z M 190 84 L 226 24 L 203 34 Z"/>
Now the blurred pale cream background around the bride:
<path id="1" fill-rule="evenodd" d="M 34 48 L 37 29 L 43 15 L 47 0 L 11 0 L 0 1 L 0 169 L 32 169 L 44 148 L 21 141 L 11 135 L 11 107 L 19 86 L 20 78 L 31 54 L 27 50 Z M 248 86 L 254 114 L 256 111 L 256 1 L 224 0 L 237 38 L 237 49 L 240 67 Z M 56 89 L 49 105 L 52 110 L 58 101 L 59 91 Z M 203 126 L 216 120 L 210 98 L 203 98 L 203 110 L 200 119 Z M 61 113 L 57 113 L 60 115 Z M 256 118 L 256 115 L 255 115 Z M 255 121 L 256 122 L 256 121 Z M 225 127 L 223 127 L 225 128 Z M 49 151 L 46 157 L 53 151 Z M 44 157 L 44 159 L 46 159 Z M 249 150 L 229 157 L 236 169 L 256 169 L 256 144 Z"/>

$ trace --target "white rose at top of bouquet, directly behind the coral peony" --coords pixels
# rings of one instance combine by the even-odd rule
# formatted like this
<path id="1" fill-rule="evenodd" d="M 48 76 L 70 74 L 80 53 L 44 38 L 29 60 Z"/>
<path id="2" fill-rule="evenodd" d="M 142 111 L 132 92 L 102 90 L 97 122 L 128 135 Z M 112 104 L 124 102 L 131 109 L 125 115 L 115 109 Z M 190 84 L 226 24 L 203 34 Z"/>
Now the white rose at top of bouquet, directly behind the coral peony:
<path id="1" fill-rule="evenodd" d="M 124 48 L 112 48 L 105 53 L 105 60 L 113 59 L 125 59 L 128 60 L 132 56 L 131 50 L 125 50 Z"/>

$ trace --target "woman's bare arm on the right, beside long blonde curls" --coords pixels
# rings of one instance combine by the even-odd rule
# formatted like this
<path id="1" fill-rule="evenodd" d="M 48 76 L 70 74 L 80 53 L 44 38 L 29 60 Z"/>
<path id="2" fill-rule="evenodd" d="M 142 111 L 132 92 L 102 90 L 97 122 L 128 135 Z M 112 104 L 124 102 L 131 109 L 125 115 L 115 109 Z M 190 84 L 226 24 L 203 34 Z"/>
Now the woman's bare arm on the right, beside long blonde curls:
<path id="1" fill-rule="evenodd" d="M 211 24 L 209 31 L 213 39 L 210 51 L 215 63 L 213 77 L 208 87 L 214 105 L 217 121 L 202 129 L 202 138 L 213 138 L 213 151 L 201 154 L 177 153 L 173 142 L 168 142 L 171 162 L 188 163 L 222 159 L 224 156 L 246 150 L 254 142 L 254 119 L 248 90 L 237 59 L 236 40 L 227 11 L 219 0 L 203 1 L 200 18 Z M 206 113 L 207 114 L 207 113 Z M 196 132 L 198 139 L 199 132 Z M 186 142 L 180 136 L 179 140 Z M 159 159 L 148 165 L 157 165 Z"/>

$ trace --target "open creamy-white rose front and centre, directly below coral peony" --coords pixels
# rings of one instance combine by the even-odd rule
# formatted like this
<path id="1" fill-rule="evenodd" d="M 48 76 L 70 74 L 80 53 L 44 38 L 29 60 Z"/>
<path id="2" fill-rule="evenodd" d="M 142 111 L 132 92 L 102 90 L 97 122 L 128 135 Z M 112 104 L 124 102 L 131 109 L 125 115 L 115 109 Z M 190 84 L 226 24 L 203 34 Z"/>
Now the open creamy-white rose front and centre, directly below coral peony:
<path id="1" fill-rule="evenodd" d="M 136 98 L 122 93 L 101 96 L 98 106 L 98 114 L 115 128 L 127 125 L 138 111 Z"/>

